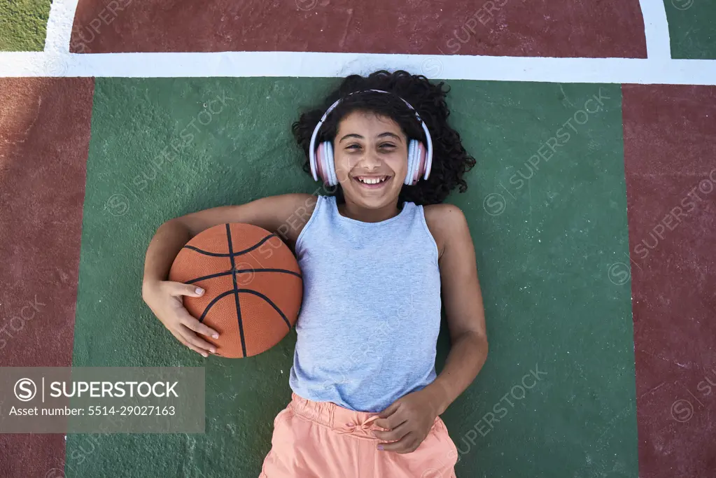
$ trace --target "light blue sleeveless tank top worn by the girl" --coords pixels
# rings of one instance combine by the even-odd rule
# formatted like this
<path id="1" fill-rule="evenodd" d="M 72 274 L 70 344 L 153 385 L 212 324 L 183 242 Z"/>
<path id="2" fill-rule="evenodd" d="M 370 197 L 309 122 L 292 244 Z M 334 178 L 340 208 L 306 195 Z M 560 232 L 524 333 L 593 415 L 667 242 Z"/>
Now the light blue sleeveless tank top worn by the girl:
<path id="1" fill-rule="evenodd" d="M 319 196 L 296 256 L 304 296 L 294 393 L 377 412 L 435 380 L 440 269 L 422 205 L 364 223 Z"/>

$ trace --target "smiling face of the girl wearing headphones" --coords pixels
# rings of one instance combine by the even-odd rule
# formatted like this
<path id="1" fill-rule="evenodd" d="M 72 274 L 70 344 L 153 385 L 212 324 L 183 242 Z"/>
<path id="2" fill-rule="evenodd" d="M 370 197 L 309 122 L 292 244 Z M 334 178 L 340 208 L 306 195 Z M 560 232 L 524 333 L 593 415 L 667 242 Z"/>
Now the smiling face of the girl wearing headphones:
<path id="1" fill-rule="evenodd" d="M 407 174 L 407 137 L 397 122 L 372 112 L 347 114 L 333 150 L 347 201 L 369 209 L 397 201 Z"/>

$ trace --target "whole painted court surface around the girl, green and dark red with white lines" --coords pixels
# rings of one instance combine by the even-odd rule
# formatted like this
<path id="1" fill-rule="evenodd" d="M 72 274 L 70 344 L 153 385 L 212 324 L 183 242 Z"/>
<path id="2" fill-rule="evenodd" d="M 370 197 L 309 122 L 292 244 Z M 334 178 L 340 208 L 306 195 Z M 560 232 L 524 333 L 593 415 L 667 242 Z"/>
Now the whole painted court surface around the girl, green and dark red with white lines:
<path id="1" fill-rule="evenodd" d="M 317 192 L 290 135 L 341 77 L 451 87 L 490 353 L 458 477 L 716 477 L 716 4 L 0 4 L 1 366 L 205 366 L 205 434 L 0 434 L 0 477 L 256 477 L 291 331 L 181 346 L 141 298 L 178 215 Z M 27 304 L 31 319 L 19 318 Z M 448 352 L 443 329 L 438 369 Z M 334 478 L 334 477 L 332 477 Z M 420 477 L 432 478 L 432 477 Z"/>

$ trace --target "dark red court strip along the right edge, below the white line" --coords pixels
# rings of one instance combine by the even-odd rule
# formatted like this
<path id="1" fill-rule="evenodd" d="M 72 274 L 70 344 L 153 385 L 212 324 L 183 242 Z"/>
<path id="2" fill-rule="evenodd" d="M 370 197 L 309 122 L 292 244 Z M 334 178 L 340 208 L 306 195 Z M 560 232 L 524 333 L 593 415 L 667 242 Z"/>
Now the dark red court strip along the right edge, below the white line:
<path id="1" fill-rule="evenodd" d="M 712 477 L 716 87 L 623 92 L 639 477 Z"/>

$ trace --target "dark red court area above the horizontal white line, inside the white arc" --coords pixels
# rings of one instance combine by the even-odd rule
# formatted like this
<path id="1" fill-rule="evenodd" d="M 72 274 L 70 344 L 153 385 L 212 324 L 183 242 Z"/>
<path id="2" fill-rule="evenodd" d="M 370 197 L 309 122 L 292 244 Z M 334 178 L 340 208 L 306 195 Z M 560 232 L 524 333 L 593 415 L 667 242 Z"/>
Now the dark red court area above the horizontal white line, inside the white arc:
<path id="1" fill-rule="evenodd" d="M 647 56 L 639 0 L 79 0 L 70 51 Z"/>

